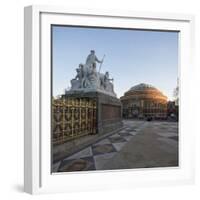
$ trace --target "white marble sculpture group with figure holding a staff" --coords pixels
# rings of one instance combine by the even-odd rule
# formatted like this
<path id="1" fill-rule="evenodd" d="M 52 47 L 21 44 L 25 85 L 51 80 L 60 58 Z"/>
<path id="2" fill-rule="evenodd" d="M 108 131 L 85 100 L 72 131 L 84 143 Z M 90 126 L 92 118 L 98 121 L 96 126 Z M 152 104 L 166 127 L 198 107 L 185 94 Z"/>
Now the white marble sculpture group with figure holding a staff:
<path id="1" fill-rule="evenodd" d="M 99 71 L 96 69 L 96 62 L 100 63 Z M 79 64 L 76 69 L 77 75 L 71 80 L 70 91 L 100 91 L 107 93 L 112 96 L 116 96 L 113 89 L 113 79 L 109 78 L 109 72 L 105 74 L 100 73 L 101 65 L 103 59 L 100 61 L 96 55 L 95 51 L 91 50 L 88 55 L 85 64 Z"/>

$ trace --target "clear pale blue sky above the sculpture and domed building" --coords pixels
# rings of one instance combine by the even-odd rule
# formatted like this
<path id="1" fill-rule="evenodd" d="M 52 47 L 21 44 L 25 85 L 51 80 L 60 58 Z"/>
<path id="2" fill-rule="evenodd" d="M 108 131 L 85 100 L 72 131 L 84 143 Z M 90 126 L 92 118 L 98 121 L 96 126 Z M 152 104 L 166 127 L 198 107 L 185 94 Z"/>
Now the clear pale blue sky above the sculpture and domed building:
<path id="1" fill-rule="evenodd" d="M 139 83 L 161 90 L 169 99 L 178 77 L 178 32 L 53 26 L 53 95 L 64 93 L 91 49 L 105 59 L 101 72 L 114 78 L 118 97 Z M 97 64 L 97 70 L 99 64 Z"/>

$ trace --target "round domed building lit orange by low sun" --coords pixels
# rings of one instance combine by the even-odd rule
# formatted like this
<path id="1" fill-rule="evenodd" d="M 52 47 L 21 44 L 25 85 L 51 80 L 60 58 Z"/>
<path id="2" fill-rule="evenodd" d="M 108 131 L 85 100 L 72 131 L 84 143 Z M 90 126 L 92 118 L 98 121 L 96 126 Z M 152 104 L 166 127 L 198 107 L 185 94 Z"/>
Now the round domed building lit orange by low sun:
<path id="1" fill-rule="evenodd" d="M 166 119 L 167 97 L 152 85 L 136 85 L 121 98 L 123 117 L 138 119 Z"/>

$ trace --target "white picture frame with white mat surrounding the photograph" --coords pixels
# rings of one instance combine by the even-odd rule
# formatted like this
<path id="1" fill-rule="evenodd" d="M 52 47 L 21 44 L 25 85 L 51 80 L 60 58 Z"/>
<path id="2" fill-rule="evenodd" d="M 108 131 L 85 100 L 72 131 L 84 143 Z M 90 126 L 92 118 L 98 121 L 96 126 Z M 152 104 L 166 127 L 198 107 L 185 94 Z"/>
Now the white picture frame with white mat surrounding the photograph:
<path id="1" fill-rule="evenodd" d="M 86 10 L 56 6 L 25 8 L 24 190 L 31 194 L 137 186 L 185 184 L 194 181 L 194 135 L 190 132 L 194 17 L 184 14 Z M 87 25 L 149 30 L 176 30 L 179 37 L 180 122 L 176 168 L 51 174 L 50 153 L 50 25 Z"/>

